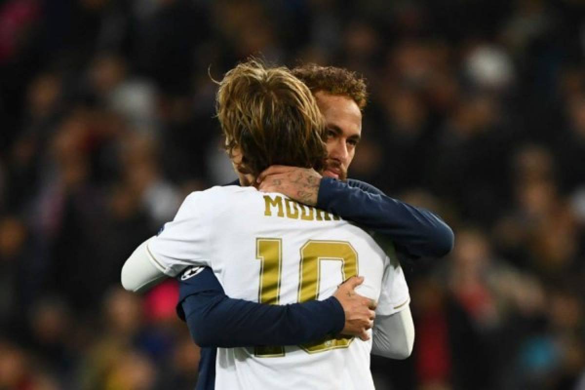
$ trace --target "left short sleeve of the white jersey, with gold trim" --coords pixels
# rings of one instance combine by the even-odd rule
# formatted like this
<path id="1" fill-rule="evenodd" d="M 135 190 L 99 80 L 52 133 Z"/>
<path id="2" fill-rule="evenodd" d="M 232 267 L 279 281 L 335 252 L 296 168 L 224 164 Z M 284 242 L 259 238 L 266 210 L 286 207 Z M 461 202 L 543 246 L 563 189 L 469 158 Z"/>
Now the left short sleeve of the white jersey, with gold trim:
<path id="1" fill-rule="evenodd" d="M 214 208 L 208 191 L 193 192 L 179 208 L 175 219 L 148 241 L 148 250 L 166 275 L 175 277 L 189 265 L 211 266 L 209 220 Z"/>

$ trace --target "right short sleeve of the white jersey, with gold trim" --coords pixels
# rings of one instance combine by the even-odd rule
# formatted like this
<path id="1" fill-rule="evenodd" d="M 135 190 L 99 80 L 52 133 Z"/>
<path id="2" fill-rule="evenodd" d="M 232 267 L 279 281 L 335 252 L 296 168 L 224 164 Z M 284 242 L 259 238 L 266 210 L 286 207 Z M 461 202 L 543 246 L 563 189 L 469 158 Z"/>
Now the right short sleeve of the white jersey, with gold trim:
<path id="1" fill-rule="evenodd" d="M 408 307 L 410 295 L 402 267 L 395 257 L 390 257 L 384 269 L 382 287 L 376 314 L 389 316 Z"/>

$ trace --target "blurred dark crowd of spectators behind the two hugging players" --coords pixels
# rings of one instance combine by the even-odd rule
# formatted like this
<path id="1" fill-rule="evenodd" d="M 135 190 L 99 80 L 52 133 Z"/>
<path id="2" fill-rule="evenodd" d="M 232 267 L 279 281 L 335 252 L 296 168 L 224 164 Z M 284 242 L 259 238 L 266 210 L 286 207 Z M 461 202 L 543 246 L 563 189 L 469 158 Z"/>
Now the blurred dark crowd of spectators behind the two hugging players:
<path id="1" fill-rule="evenodd" d="M 121 289 L 191 191 L 235 175 L 215 84 L 259 54 L 369 84 L 349 175 L 441 215 L 405 261 L 384 389 L 585 389 L 585 7 L 572 0 L 0 1 L 0 389 L 191 389 L 176 285 Z"/>

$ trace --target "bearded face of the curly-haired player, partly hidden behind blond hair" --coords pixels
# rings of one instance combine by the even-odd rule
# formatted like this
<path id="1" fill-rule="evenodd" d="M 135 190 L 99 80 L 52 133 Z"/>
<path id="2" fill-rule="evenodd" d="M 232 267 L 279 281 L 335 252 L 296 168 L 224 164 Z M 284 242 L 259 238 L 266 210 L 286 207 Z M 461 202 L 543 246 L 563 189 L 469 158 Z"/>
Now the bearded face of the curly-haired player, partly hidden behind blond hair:
<path id="1" fill-rule="evenodd" d="M 327 126 L 327 162 L 323 175 L 347 178 L 347 168 L 362 136 L 362 112 L 349 96 L 315 92 L 319 110 Z"/>

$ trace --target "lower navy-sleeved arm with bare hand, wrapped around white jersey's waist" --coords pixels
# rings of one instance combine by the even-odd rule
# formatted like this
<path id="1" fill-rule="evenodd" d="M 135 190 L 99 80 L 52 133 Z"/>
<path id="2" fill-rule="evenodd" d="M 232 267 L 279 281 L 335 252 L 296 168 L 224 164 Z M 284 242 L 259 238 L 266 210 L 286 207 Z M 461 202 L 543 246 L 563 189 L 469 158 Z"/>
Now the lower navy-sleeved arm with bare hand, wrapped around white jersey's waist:
<path id="1" fill-rule="evenodd" d="M 177 313 L 202 347 L 295 345 L 339 333 L 367 338 L 371 303 L 347 294 L 362 280 L 350 279 L 325 301 L 263 305 L 226 296 L 208 267 L 188 268 L 178 278 Z"/>

